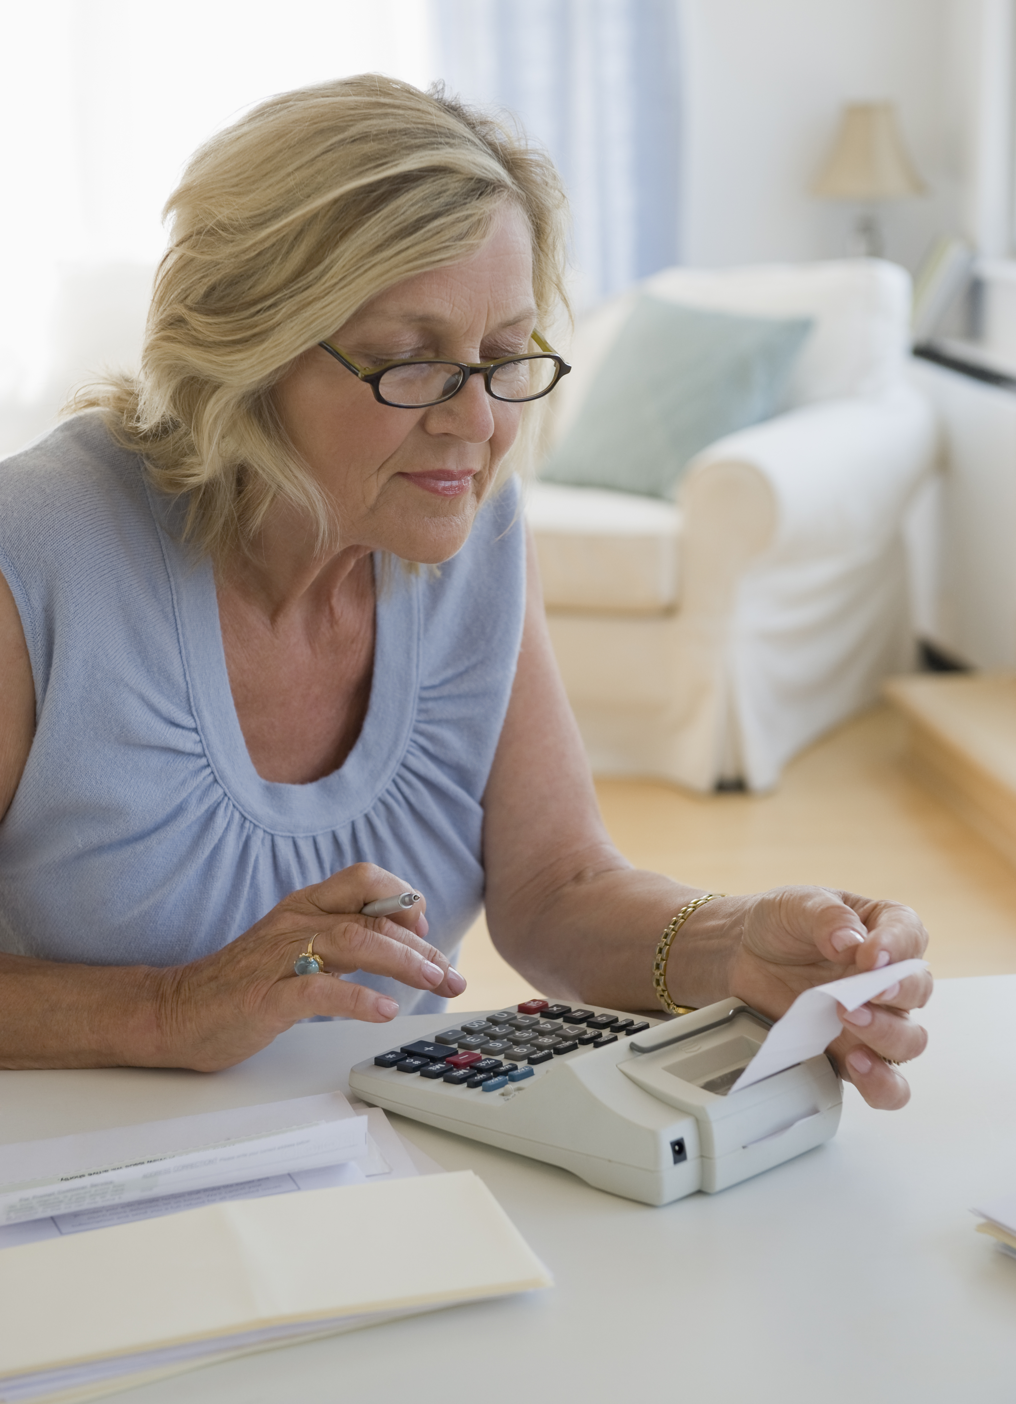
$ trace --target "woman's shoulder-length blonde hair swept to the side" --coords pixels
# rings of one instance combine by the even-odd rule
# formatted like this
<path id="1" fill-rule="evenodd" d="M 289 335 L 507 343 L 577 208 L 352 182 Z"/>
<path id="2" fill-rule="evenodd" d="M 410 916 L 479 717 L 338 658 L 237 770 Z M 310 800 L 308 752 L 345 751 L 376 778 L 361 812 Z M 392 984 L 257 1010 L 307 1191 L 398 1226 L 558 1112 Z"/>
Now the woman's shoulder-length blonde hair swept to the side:
<path id="1" fill-rule="evenodd" d="M 140 375 L 70 407 L 104 411 L 154 484 L 185 497 L 187 535 L 215 557 L 248 549 L 279 498 L 306 514 L 317 550 L 335 549 L 341 524 L 272 388 L 376 293 L 473 254 L 505 201 L 532 229 L 546 326 L 567 307 L 566 205 L 543 152 L 439 84 L 365 74 L 269 98 L 202 146 L 167 201 Z"/>

